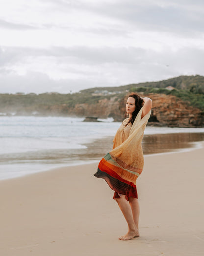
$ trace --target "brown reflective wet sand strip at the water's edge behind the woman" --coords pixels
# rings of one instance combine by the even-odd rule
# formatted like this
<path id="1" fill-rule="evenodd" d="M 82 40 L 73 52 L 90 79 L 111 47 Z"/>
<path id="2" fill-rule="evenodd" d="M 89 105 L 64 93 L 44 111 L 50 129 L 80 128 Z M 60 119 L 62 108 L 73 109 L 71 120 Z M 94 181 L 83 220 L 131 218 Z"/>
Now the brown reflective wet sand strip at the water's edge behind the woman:
<path id="1" fill-rule="evenodd" d="M 1 154 L 0 164 L 25 164 L 29 165 L 70 165 L 81 161 L 99 160 L 113 147 L 113 136 L 97 139 L 90 143 L 83 144 L 84 149 L 52 149 L 21 152 L 15 154 Z M 143 152 L 147 154 L 163 153 L 182 150 L 184 148 L 194 147 L 194 142 L 204 140 L 204 133 L 172 133 L 145 135 L 142 146 Z M 61 167 L 60 166 L 60 167 Z M 42 167 L 41 167 L 42 168 Z M 50 168 L 50 167 L 49 167 Z M 48 169 L 49 169 L 48 168 Z"/>

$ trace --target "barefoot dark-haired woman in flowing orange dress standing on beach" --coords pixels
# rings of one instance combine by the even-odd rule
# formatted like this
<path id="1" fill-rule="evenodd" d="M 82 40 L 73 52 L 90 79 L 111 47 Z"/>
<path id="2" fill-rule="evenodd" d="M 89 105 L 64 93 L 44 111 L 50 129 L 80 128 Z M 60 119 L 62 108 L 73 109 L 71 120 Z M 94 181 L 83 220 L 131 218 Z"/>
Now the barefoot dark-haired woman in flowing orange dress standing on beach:
<path id="1" fill-rule="evenodd" d="M 94 174 L 97 178 L 105 179 L 115 191 L 113 198 L 128 223 L 128 233 L 119 237 L 120 240 L 139 237 L 136 179 L 144 165 L 141 143 L 151 108 L 150 98 L 142 98 L 135 93 L 129 95 L 126 102 L 129 117 L 122 122 L 116 132 L 113 150 L 102 158 L 98 171 Z"/>

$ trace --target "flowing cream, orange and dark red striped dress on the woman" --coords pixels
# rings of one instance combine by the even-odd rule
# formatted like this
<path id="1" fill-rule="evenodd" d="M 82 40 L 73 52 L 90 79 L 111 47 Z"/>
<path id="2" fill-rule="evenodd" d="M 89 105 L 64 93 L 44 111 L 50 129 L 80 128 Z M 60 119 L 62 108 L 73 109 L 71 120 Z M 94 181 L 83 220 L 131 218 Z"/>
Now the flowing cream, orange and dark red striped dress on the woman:
<path id="1" fill-rule="evenodd" d="M 144 165 L 142 138 L 151 114 L 150 111 L 141 118 L 142 109 L 130 128 L 128 138 L 126 138 L 127 134 L 122 134 L 119 128 L 114 138 L 115 148 L 102 158 L 94 174 L 95 177 L 106 180 L 110 188 L 115 191 L 114 198 L 119 198 L 120 194 L 126 195 L 127 200 L 129 197 L 138 198 L 136 179 Z M 121 139 L 122 135 L 126 138 L 124 142 Z"/>

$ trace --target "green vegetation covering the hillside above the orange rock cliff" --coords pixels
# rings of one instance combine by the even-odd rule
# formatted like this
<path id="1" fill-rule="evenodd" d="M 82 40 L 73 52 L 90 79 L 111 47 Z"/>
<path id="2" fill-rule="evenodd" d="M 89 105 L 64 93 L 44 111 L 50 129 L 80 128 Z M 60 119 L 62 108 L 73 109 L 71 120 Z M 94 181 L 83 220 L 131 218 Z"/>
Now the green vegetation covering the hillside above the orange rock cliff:
<path id="1" fill-rule="evenodd" d="M 167 90 L 165 87 L 172 86 L 175 89 Z M 99 92 L 99 93 L 96 93 Z M 105 93 L 104 93 L 105 91 Z M 51 106 L 63 105 L 67 108 L 76 104 L 93 104 L 101 99 L 121 99 L 128 92 L 164 93 L 171 94 L 187 101 L 190 105 L 204 110 L 204 77 L 203 76 L 180 76 L 159 82 L 147 82 L 130 84 L 119 87 L 101 87 L 82 90 L 74 94 L 0 94 L 0 112 L 25 110 L 40 111 Z M 101 92 L 101 93 L 100 93 Z"/>

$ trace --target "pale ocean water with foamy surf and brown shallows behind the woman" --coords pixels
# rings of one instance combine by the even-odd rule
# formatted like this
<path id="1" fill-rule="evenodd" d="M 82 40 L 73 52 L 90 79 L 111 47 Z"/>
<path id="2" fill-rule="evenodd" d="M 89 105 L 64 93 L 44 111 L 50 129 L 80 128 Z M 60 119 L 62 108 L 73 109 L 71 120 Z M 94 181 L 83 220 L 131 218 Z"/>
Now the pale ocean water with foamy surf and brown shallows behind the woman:
<path id="1" fill-rule="evenodd" d="M 0 117 L 0 180 L 100 160 L 112 148 L 119 122 L 73 117 Z M 146 127 L 144 154 L 199 147 L 204 128 Z"/>

